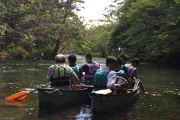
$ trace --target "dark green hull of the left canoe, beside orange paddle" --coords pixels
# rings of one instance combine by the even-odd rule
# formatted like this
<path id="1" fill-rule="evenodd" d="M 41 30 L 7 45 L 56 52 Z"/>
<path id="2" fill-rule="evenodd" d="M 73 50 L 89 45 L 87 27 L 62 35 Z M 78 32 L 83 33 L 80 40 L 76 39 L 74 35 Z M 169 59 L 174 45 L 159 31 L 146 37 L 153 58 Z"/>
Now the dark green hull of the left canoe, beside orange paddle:
<path id="1" fill-rule="evenodd" d="M 90 88 L 73 90 L 58 90 L 54 88 L 38 88 L 39 108 L 53 106 L 71 106 L 83 101 L 90 101 Z"/>

